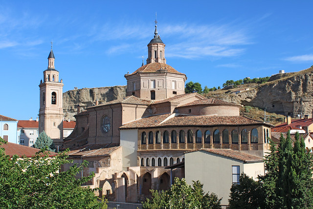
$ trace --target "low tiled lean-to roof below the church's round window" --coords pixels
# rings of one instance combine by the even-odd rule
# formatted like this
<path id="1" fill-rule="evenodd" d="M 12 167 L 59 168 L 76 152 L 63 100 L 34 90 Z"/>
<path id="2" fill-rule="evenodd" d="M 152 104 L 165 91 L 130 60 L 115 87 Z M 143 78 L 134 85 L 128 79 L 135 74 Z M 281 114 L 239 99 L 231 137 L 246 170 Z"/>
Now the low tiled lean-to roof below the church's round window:
<path id="1" fill-rule="evenodd" d="M 69 151 L 68 155 L 80 157 L 110 155 L 119 147 L 119 144 L 86 144 L 80 147 L 75 147 Z"/>

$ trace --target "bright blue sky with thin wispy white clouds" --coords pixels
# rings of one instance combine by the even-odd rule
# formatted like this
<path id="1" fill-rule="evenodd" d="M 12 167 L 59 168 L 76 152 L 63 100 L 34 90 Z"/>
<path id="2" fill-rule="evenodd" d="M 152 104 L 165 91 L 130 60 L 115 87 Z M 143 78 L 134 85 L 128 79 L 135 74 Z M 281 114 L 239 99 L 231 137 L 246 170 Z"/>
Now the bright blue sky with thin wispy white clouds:
<path id="1" fill-rule="evenodd" d="M 0 115 L 36 118 L 53 40 L 64 89 L 126 85 L 158 32 L 167 64 L 209 88 L 313 65 L 313 1 L 0 0 Z"/>

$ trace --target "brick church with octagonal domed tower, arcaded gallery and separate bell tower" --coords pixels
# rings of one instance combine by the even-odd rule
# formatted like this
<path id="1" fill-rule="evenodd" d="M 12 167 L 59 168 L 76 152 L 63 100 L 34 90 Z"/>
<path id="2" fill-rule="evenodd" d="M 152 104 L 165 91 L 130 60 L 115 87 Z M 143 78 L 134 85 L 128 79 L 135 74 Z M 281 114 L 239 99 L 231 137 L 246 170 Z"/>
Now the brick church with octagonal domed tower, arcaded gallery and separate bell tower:
<path id="1" fill-rule="evenodd" d="M 271 124 L 240 116 L 237 104 L 185 93 L 187 77 L 166 64 L 165 44 L 155 27 L 147 64 L 125 75 L 127 96 L 75 115 L 76 126 L 64 139 L 63 149 L 70 149 L 74 163 L 89 162 L 80 175 L 95 173 L 87 185 L 102 188 L 98 195 L 109 201 L 137 203 L 150 197 L 150 189 L 168 189 L 174 177 L 185 177 L 188 167 L 170 167 L 184 164 L 185 153 L 226 150 L 219 153 L 241 153 L 245 163 L 249 158 L 262 159 L 269 149 Z M 48 59 L 54 63 L 52 49 L 51 53 Z M 63 83 L 58 82 L 52 63 L 49 60 L 40 84 L 39 121 L 40 130 L 53 128 L 56 122 L 57 131 L 62 123 L 58 108 L 62 108 Z M 210 162 L 204 164 L 210 166 Z M 253 167 L 249 169 L 253 173 Z"/>

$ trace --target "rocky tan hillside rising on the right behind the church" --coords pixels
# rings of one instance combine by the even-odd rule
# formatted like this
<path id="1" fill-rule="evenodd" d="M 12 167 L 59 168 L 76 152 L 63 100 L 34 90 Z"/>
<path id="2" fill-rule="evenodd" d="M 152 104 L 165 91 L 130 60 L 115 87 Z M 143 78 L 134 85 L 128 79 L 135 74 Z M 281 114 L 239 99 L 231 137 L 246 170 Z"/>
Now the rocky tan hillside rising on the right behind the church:
<path id="1" fill-rule="evenodd" d="M 313 114 L 313 68 L 272 75 L 267 83 L 240 85 L 222 89 L 206 96 L 242 105 L 266 109 L 282 115 Z"/>

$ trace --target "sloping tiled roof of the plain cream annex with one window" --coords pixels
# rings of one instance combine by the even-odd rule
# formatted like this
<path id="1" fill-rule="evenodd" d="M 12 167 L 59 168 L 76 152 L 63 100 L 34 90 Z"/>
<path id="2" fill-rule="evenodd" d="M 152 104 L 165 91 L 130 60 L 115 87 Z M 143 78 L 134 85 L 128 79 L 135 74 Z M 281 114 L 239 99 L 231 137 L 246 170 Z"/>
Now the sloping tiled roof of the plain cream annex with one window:
<path id="1" fill-rule="evenodd" d="M 253 156 L 253 155 L 248 155 L 246 153 L 243 152 L 239 152 L 236 150 L 231 150 L 231 149 L 205 149 L 205 148 L 201 148 L 199 150 L 193 150 L 193 151 L 189 151 L 190 152 L 197 152 L 197 151 L 205 151 L 205 152 L 209 152 L 209 153 L 213 153 L 213 154 L 217 154 L 217 155 L 222 155 L 228 158 L 233 158 L 233 159 L 237 159 L 240 161 L 244 161 L 245 163 L 258 163 L 258 162 L 263 162 L 262 158 Z"/>

